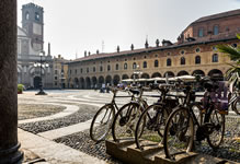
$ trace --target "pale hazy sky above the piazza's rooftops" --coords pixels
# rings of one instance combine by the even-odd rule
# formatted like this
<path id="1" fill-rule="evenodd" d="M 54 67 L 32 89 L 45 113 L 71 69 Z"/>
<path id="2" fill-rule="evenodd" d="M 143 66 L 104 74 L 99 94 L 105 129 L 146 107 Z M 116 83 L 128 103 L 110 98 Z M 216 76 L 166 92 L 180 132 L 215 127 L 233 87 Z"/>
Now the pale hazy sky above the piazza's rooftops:
<path id="1" fill-rule="evenodd" d="M 144 48 L 146 39 L 176 42 L 195 20 L 240 9 L 240 0 L 18 0 L 18 25 L 22 5 L 44 8 L 44 49 L 66 59 L 95 54 Z"/>

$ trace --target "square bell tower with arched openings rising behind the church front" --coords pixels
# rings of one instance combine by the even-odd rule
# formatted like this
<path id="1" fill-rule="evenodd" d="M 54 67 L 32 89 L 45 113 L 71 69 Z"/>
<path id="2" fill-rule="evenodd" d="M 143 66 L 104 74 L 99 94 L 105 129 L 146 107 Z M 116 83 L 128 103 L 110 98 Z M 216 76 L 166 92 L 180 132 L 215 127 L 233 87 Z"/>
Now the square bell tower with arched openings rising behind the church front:
<path id="1" fill-rule="evenodd" d="M 22 7 L 22 28 L 31 38 L 32 47 L 41 51 L 44 49 L 44 9 L 34 3 Z"/>

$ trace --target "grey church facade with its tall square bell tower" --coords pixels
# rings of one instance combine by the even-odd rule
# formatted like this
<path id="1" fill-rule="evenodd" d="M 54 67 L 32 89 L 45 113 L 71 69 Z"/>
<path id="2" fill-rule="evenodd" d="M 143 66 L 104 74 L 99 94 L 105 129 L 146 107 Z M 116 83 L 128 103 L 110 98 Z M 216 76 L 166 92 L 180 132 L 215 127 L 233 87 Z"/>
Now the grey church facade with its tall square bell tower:
<path id="1" fill-rule="evenodd" d="M 18 83 L 25 87 L 38 89 L 41 78 L 44 87 L 53 85 L 53 57 L 50 46 L 48 52 L 44 50 L 44 10 L 34 3 L 22 7 L 22 27 L 18 26 Z M 42 61 L 49 67 L 34 67 L 41 62 L 39 54 L 43 52 Z M 41 74 L 42 72 L 42 74 Z"/>

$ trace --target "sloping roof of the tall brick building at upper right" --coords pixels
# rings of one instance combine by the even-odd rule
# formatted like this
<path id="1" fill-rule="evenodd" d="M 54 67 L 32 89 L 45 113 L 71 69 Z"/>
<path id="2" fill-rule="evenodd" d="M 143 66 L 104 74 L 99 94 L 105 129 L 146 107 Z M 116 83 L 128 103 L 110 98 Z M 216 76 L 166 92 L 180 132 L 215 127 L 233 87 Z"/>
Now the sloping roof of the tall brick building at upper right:
<path id="1" fill-rule="evenodd" d="M 240 9 L 227 11 L 227 12 L 221 12 L 221 13 L 214 14 L 214 15 L 204 16 L 204 17 L 201 17 L 201 19 L 194 21 L 193 23 L 209 21 L 209 20 L 214 20 L 214 19 L 221 19 L 221 17 L 227 17 L 227 16 L 232 16 L 232 15 L 240 15 Z"/>

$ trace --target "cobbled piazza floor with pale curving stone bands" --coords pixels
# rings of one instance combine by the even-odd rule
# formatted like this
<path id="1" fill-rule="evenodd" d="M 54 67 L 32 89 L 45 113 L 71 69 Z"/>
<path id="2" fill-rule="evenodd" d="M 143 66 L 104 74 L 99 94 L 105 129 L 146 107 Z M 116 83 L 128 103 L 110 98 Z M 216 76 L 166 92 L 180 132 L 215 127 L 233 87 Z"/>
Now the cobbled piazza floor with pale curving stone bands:
<path id="1" fill-rule="evenodd" d="M 127 95 L 127 93 L 119 94 Z M 36 96 L 35 92 L 27 91 L 24 92 L 24 94 L 19 95 L 19 106 L 25 105 L 30 107 L 30 112 L 27 112 L 27 108 L 25 108 L 24 113 L 26 114 L 25 118 L 27 118 L 28 115 L 32 115 L 32 119 L 26 119 L 27 121 L 25 124 L 25 120 L 19 121 L 19 127 L 32 132 L 30 133 L 21 130 L 21 132 L 26 136 L 34 137 L 33 133 L 35 133 L 37 134 L 37 140 L 38 138 L 41 140 L 44 139 L 44 141 L 46 140 L 45 142 L 49 141 L 49 144 L 56 147 L 58 147 L 59 143 L 64 143 L 68 145 L 67 148 L 70 150 L 73 149 L 77 152 L 83 152 L 85 156 L 91 155 L 98 157 L 98 162 L 105 161 L 107 163 L 121 163 L 119 161 L 112 159 L 105 153 L 105 144 L 103 142 L 95 144 L 89 137 L 91 118 L 102 105 L 110 103 L 111 99 L 111 93 L 99 93 L 88 90 L 48 91 L 48 95 L 46 96 Z M 119 106 L 122 106 L 123 104 L 129 102 L 129 99 L 117 98 L 116 102 Z M 156 98 L 148 98 L 148 102 L 151 104 L 152 102 L 156 102 Z M 42 105 L 42 109 L 37 106 L 37 104 Z M 33 109 L 34 107 L 36 108 Z M 71 110 L 73 107 L 77 109 Z M 49 109 L 49 112 L 44 113 L 46 109 Z M 64 112 L 68 109 L 69 113 L 66 115 Z M 20 117 L 20 119 L 22 119 L 24 117 L 24 113 L 21 110 L 21 107 L 19 113 L 23 114 Z M 58 117 L 53 117 L 55 115 L 58 115 Z M 43 118 L 44 120 L 41 120 Z M 213 150 L 207 144 L 205 145 L 203 142 L 198 151 L 205 154 L 210 154 L 224 159 L 227 157 L 229 160 L 240 162 L 240 141 L 233 140 L 233 138 L 240 137 L 240 117 L 228 116 L 226 122 L 225 143 L 222 147 L 217 152 L 213 152 Z M 22 148 L 24 148 L 26 143 L 25 141 L 22 141 L 22 139 L 23 138 L 20 137 L 20 142 L 22 142 Z M 33 140 L 32 142 L 34 143 Z M 27 142 L 27 145 L 30 144 L 32 143 Z M 30 147 L 30 149 L 33 149 L 34 147 Z M 39 148 L 39 150 L 41 149 L 42 148 Z M 36 150 L 34 149 L 34 152 Z M 49 159 L 47 150 L 44 151 L 46 151 L 46 154 L 43 152 L 37 152 L 37 155 L 46 156 L 49 163 L 56 163 L 56 159 L 60 157 L 56 156 L 55 160 Z M 60 159 L 58 162 L 66 163 L 65 160 L 66 159 Z M 80 160 L 79 163 L 89 163 L 87 161 Z M 68 162 L 70 163 L 70 161 Z"/>

